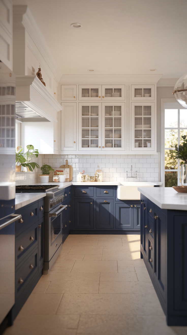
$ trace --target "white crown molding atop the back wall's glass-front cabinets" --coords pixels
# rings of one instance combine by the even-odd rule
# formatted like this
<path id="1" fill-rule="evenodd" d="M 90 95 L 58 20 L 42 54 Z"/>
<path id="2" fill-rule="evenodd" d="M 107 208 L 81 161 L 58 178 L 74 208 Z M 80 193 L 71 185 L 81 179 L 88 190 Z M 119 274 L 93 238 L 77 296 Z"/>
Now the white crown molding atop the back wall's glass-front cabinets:
<path id="1" fill-rule="evenodd" d="M 60 84 L 150 84 L 157 83 L 162 74 L 63 74 Z"/>

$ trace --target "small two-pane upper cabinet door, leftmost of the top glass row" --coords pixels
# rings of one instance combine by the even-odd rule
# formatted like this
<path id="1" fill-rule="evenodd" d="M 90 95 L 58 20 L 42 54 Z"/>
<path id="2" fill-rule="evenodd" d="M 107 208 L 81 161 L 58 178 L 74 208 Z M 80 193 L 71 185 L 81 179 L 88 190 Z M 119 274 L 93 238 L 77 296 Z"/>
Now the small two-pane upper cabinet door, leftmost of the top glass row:
<path id="1" fill-rule="evenodd" d="M 101 85 L 79 85 L 79 100 L 101 100 Z"/>

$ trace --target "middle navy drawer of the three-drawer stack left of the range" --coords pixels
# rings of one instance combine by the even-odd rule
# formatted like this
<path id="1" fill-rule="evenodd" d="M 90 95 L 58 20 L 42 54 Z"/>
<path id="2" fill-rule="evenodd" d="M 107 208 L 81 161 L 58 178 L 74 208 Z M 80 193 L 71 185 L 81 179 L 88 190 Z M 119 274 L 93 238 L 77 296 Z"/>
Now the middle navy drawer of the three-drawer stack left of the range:
<path id="1" fill-rule="evenodd" d="M 16 266 L 38 245 L 38 221 L 24 230 L 15 240 Z"/>

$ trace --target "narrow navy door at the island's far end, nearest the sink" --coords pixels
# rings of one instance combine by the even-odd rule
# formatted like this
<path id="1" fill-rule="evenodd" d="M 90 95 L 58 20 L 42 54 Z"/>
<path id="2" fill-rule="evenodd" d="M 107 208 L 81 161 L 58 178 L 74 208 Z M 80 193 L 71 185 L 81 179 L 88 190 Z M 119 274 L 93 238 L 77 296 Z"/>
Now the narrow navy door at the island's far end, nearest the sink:
<path id="1" fill-rule="evenodd" d="M 148 260 L 148 201 L 141 198 L 141 246 L 143 256 Z"/>

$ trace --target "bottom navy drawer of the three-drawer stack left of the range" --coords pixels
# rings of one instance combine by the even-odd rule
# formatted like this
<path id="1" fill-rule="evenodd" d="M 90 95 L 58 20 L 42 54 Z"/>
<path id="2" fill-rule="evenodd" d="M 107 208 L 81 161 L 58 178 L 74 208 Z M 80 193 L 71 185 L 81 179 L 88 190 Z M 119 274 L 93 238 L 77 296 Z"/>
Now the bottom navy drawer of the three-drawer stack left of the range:
<path id="1" fill-rule="evenodd" d="M 21 293 L 26 286 L 26 283 L 31 277 L 38 271 L 38 253 L 37 250 L 28 257 L 28 259 L 23 263 L 23 265 L 16 271 L 15 274 L 15 293 Z"/>

